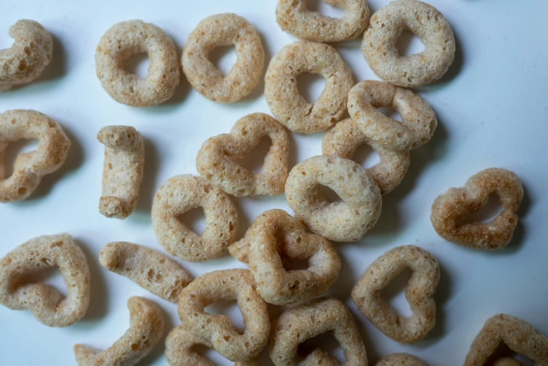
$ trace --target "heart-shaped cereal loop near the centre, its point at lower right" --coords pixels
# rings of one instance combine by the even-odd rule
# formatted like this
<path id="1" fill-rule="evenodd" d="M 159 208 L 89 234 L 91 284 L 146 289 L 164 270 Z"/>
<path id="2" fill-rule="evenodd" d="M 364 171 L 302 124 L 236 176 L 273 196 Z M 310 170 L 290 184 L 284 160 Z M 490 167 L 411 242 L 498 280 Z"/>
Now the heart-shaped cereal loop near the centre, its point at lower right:
<path id="1" fill-rule="evenodd" d="M 259 174 L 233 162 L 245 158 L 264 136 L 270 137 L 272 145 Z M 289 171 L 288 149 L 289 135 L 278 121 L 267 114 L 249 114 L 235 123 L 231 133 L 203 143 L 196 156 L 196 169 L 203 178 L 233 196 L 275 196 L 284 191 Z"/>

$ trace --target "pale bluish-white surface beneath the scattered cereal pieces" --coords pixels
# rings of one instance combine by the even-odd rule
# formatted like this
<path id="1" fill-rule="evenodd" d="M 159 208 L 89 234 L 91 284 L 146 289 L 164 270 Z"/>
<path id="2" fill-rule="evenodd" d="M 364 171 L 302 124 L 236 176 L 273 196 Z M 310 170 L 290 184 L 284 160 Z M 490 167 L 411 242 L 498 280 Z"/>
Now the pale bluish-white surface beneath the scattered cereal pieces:
<path id="1" fill-rule="evenodd" d="M 330 15 L 341 15 L 320 0 L 309 3 Z M 369 0 L 373 11 L 387 3 Z M 548 334 L 548 2 L 430 3 L 446 15 L 458 39 L 458 53 L 448 74 L 441 82 L 419 90 L 436 112 L 439 128 L 429 143 L 412 151 L 409 173 L 402 185 L 384 198 L 383 215 L 376 227 L 359 243 L 338 245 L 343 269 L 331 292 L 354 313 L 370 364 L 397 351 L 418 355 L 428 365 L 462 364 L 484 321 L 501 312 L 519 316 Z M 90 309 L 71 327 L 48 328 L 26 311 L 0 306 L 0 364 L 76 365 L 73 344 L 104 349 L 125 332 L 129 321 L 125 302 L 133 295 L 160 304 L 167 333 L 179 324 L 177 307 L 102 269 L 97 256 L 104 244 L 114 240 L 163 251 L 149 215 L 154 192 L 173 175 L 196 174 L 194 159 L 207 137 L 228 132 L 245 114 L 270 113 L 262 95 L 263 83 L 245 101 L 221 105 L 205 99 L 182 79 L 176 95 L 165 104 L 145 109 L 127 107 L 102 90 L 95 76 L 95 47 L 116 22 L 143 19 L 165 29 L 181 48 L 189 32 L 207 15 L 233 12 L 257 27 L 270 58 L 294 41 L 275 23 L 275 1 L 3 0 L 0 8 L 0 48 L 11 45 L 8 27 L 20 19 L 37 20 L 55 36 L 52 64 L 38 81 L 2 93 L 0 111 L 41 111 L 59 121 L 72 140 L 67 163 L 43 179 L 31 198 L 0 205 L 0 256 L 35 236 L 67 231 L 83 246 L 92 272 Z M 376 79 L 359 50 L 360 41 L 334 46 L 350 64 L 355 81 Z M 420 42 L 411 46 L 419 50 L 418 45 Z M 229 69 L 233 60 L 233 54 L 224 57 L 222 68 Z M 310 88 L 313 95 L 319 95 L 322 83 L 312 83 Z M 112 124 L 135 126 L 146 139 L 142 196 L 135 212 L 123 221 L 107 219 L 97 210 L 104 146 L 95 135 Z M 321 154 L 323 135 L 293 135 L 292 165 Z M 490 167 L 513 170 L 526 189 L 515 240 L 498 252 L 477 252 L 439 238 L 429 218 L 434 198 Z M 238 207 L 240 235 L 264 210 L 289 210 L 284 196 L 242 198 Z M 357 311 L 350 301 L 350 290 L 374 259 L 410 243 L 432 252 L 441 265 L 436 294 L 439 316 L 425 340 L 403 346 L 385 337 Z M 183 265 L 195 276 L 242 266 L 228 256 Z M 60 276 L 49 281 L 63 288 Z M 394 302 L 398 309 L 409 312 L 409 306 L 402 306 L 401 294 Z M 228 311 L 235 313 L 235 306 L 229 306 Z M 219 365 L 229 364 L 219 361 Z M 163 344 L 139 365 L 167 365 Z M 266 352 L 261 365 L 270 365 Z"/>

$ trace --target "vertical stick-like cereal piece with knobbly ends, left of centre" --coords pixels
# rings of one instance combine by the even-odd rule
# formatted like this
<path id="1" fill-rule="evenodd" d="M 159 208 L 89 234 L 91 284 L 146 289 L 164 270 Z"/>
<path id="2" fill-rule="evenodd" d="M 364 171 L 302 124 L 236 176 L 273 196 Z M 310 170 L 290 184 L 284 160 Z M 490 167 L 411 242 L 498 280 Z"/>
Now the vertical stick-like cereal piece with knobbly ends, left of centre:
<path id="1" fill-rule="evenodd" d="M 99 212 L 125 219 L 137 205 L 144 174 L 144 141 L 130 126 L 107 126 L 97 133 L 104 144 L 103 193 Z"/>

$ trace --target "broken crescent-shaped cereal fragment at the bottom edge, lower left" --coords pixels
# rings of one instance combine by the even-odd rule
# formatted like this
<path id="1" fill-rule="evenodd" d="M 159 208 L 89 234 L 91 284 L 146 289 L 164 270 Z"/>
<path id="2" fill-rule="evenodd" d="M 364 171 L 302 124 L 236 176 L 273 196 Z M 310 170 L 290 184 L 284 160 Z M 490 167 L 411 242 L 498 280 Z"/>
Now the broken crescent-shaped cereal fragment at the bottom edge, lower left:
<path id="1" fill-rule="evenodd" d="M 148 355 L 160 341 L 164 329 L 162 311 L 143 297 L 130 297 L 130 327 L 105 351 L 76 344 L 74 355 L 78 366 L 132 366 Z"/>

